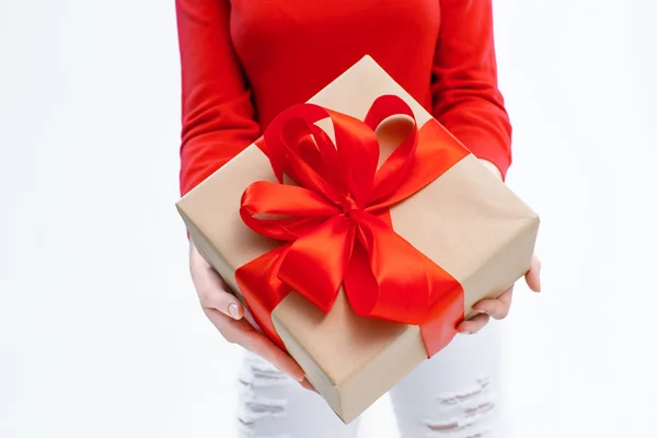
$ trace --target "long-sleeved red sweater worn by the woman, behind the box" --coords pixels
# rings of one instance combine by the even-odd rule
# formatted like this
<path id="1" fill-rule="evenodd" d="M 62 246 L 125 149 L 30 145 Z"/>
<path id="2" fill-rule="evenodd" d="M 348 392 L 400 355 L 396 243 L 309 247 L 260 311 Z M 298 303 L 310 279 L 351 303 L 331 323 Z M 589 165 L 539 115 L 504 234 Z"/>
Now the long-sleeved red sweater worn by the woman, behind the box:
<path id="1" fill-rule="evenodd" d="M 506 174 L 491 1 L 176 0 L 182 194 L 365 55 Z"/>

